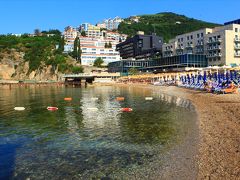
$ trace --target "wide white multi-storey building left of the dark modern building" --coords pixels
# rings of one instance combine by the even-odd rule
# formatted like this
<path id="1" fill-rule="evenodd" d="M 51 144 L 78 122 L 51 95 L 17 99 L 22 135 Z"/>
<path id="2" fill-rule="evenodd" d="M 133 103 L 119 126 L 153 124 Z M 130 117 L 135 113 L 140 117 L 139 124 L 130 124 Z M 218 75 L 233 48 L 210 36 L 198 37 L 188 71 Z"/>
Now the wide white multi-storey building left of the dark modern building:
<path id="1" fill-rule="evenodd" d="M 119 52 L 116 51 L 118 41 L 112 39 L 100 39 L 91 37 L 80 37 L 81 62 L 82 65 L 93 66 L 96 58 L 103 59 L 103 65 L 121 60 Z M 111 48 L 105 48 L 106 43 L 111 43 Z"/>

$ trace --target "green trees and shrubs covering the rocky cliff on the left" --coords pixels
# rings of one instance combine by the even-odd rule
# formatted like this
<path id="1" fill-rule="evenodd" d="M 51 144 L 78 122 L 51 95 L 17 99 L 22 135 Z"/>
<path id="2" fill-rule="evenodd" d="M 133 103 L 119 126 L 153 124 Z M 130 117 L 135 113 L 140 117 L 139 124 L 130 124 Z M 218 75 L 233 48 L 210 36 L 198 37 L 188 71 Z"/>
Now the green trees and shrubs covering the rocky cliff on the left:
<path id="1" fill-rule="evenodd" d="M 16 64 L 19 59 L 9 58 L 8 55 L 12 53 L 14 57 L 17 53 L 21 53 L 23 54 L 22 59 L 24 63 L 28 64 L 26 74 L 30 74 L 33 71 L 41 71 L 46 67 L 50 67 L 52 74 L 58 72 L 71 73 L 77 70 L 83 71 L 83 69 L 71 63 L 71 61 L 74 61 L 71 57 L 63 54 L 64 39 L 61 37 L 61 32 L 54 32 L 55 34 L 48 36 L 50 33 L 45 31 L 45 33 L 41 33 L 41 35 L 35 37 L 28 35 L 22 35 L 21 37 L 1 35 L 0 63 L 6 64 L 6 59 L 9 59 L 12 64 Z M 2 62 L 3 60 L 5 62 Z M 20 65 L 23 66 L 24 63 Z"/>

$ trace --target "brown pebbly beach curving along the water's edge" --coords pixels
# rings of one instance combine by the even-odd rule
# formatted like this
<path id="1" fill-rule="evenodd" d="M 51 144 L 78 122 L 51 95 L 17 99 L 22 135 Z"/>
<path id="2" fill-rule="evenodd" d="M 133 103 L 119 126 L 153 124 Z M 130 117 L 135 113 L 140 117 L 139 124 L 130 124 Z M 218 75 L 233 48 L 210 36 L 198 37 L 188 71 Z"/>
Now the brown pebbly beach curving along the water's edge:
<path id="1" fill-rule="evenodd" d="M 198 114 L 200 137 L 197 179 L 240 179 L 240 94 L 216 95 L 175 86 L 121 86 L 157 89 L 191 100 Z"/>

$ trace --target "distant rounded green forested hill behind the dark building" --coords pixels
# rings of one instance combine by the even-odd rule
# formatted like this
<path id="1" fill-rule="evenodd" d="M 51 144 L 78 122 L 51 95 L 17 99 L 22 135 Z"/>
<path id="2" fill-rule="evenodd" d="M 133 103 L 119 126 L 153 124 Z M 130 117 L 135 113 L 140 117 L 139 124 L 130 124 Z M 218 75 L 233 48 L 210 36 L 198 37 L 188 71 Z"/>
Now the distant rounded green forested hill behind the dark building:
<path id="1" fill-rule="evenodd" d="M 202 28 L 213 28 L 219 24 L 205 22 L 171 12 L 154 15 L 140 15 L 138 22 L 131 17 L 126 18 L 118 27 L 120 33 L 134 36 L 137 31 L 144 31 L 145 34 L 155 32 L 162 36 L 167 42 L 177 35 L 199 30 Z"/>

